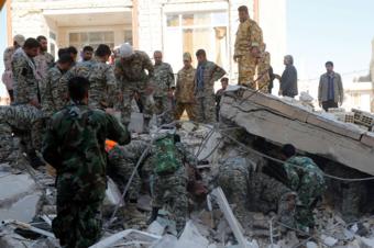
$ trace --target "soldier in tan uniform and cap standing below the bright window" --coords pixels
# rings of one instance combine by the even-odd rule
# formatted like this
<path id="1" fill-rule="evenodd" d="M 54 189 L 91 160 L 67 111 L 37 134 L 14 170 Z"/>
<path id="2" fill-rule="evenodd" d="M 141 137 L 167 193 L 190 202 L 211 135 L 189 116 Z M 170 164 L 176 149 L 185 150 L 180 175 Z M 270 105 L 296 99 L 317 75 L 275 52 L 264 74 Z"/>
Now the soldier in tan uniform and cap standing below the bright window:
<path id="1" fill-rule="evenodd" d="M 186 110 L 188 119 L 196 121 L 196 100 L 194 95 L 196 69 L 193 67 L 193 58 L 189 53 L 183 55 L 183 63 L 185 66 L 177 75 L 175 119 L 179 120 Z"/>

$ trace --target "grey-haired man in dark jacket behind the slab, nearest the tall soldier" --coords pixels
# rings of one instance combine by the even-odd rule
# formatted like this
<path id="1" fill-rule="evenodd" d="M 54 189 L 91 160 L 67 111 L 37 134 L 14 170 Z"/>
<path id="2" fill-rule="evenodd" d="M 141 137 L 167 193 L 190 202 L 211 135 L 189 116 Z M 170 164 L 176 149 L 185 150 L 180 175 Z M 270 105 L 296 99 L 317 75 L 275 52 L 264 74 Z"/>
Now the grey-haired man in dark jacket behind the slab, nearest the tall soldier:
<path id="1" fill-rule="evenodd" d="M 298 94 L 297 90 L 297 70 L 294 66 L 294 58 L 286 55 L 284 58 L 286 69 L 283 71 L 280 78 L 280 89 L 278 94 L 283 97 L 295 98 Z"/>

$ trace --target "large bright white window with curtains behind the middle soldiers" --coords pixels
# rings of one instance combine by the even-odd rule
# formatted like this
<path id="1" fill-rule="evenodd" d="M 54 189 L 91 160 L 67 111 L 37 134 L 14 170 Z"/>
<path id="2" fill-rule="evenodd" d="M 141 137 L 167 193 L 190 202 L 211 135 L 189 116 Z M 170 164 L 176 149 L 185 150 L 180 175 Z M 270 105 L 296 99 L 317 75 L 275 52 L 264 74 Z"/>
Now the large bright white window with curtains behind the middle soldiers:
<path id="1" fill-rule="evenodd" d="M 229 68 L 227 11 L 173 13 L 166 14 L 164 33 L 165 60 L 174 68 L 183 66 L 182 55 L 189 52 L 195 55 L 197 49 L 205 49 L 208 59 L 219 66 Z M 194 59 L 196 66 L 196 59 Z"/>

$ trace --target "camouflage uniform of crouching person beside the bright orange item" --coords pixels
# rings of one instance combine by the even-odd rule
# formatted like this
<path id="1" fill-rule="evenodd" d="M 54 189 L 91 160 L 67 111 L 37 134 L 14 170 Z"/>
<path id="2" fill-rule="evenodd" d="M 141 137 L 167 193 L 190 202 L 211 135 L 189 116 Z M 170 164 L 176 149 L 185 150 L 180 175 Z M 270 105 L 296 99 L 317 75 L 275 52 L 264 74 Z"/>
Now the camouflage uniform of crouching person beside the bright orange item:
<path id="1" fill-rule="evenodd" d="M 108 174 L 113 179 L 121 192 L 124 190 L 139 158 L 146 147 L 147 143 L 133 140 L 127 146 L 117 145 L 108 151 Z M 141 185 L 142 181 L 136 171 L 128 191 L 129 200 L 138 200 Z"/>

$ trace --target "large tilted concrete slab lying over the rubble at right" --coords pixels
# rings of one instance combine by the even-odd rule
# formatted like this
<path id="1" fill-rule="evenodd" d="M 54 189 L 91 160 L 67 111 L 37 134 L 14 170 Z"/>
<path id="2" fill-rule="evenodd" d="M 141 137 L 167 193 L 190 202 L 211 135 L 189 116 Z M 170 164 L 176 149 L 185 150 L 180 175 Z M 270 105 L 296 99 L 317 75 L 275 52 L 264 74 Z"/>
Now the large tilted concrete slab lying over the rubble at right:
<path id="1" fill-rule="evenodd" d="M 333 121 L 311 115 L 305 123 L 290 117 L 287 113 L 263 108 L 251 100 L 241 101 L 232 94 L 222 99 L 221 116 L 251 134 L 278 144 L 290 143 L 300 150 L 374 174 L 372 139 L 362 131 L 345 128 L 344 124 L 339 125 Z"/>

